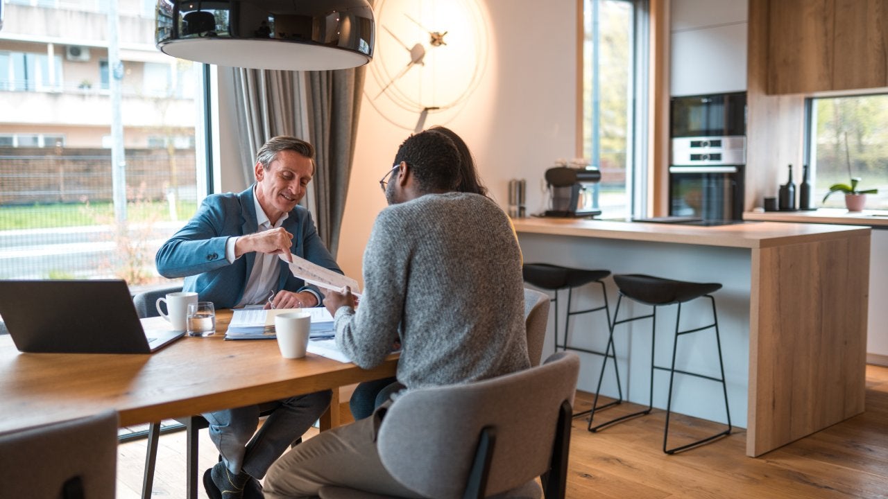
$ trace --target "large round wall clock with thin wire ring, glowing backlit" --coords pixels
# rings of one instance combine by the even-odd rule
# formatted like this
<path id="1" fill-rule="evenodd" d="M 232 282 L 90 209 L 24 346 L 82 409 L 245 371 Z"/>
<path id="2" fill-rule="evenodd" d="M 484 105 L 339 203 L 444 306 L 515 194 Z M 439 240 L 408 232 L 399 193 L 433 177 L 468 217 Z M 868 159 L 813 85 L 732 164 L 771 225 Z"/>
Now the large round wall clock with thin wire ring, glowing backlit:
<path id="1" fill-rule="evenodd" d="M 478 87 L 487 62 L 478 0 L 377 0 L 374 11 L 365 99 L 406 130 L 447 123 Z"/>

